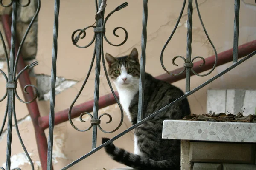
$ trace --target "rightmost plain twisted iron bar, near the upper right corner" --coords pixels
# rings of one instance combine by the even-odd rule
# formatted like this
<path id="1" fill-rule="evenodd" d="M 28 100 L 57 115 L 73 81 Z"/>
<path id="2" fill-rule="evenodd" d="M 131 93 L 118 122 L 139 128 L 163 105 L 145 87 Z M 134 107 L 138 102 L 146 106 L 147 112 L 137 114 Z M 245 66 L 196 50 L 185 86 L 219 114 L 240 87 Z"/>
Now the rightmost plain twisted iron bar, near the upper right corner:
<path id="1" fill-rule="evenodd" d="M 237 59 L 238 59 L 239 10 L 240 10 L 240 0 L 235 0 L 233 63 L 237 62 Z"/>

